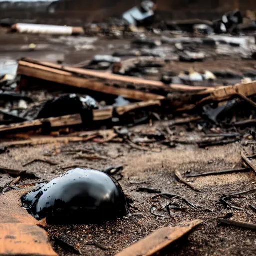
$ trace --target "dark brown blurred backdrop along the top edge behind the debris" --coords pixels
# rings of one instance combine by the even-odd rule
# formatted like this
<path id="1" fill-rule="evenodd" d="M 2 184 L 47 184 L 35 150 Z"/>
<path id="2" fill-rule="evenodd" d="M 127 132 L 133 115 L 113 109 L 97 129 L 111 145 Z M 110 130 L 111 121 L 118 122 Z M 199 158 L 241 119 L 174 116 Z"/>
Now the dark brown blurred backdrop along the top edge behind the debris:
<path id="1" fill-rule="evenodd" d="M 255 10 L 255 0 L 155 0 L 164 19 L 218 18 L 229 10 Z M 78 19 L 103 21 L 139 4 L 140 0 L 0 0 L 0 18 Z M 62 20 L 64 22 L 64 20 Z M 61 23 L 61 21 L 59 21 Z"/>

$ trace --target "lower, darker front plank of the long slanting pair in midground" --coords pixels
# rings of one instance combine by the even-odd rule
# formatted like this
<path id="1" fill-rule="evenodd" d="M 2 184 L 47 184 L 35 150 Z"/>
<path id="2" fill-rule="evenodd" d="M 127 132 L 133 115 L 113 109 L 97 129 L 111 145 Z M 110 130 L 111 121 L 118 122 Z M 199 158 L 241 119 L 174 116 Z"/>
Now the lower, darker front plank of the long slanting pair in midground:
<path id="1" fill-rule="evenodd" d="M 94 90 L 98 92 L 104 92 L 107 94 L 121 95 L 125 98 L 131 98 L 139 101 L 164 98 L 164 96 L 149 93 L 149 92 L 142 92 L 142 91 L 133 90 L 133 89 L 116 88 L 113 86 L 107 86 L 105 85 L 105 82 L 102 82 L 99 79 L 95 80 L 95 78 L 79 77 L 79 76 L 73 75 L 72 72 L 69 72 L 69 71 L 62 71 L 56 68 L 45 67 L 42 65 L 29 63 L 25 61 L 19 61 L 17 73 L 19 75 L 39 78 L 42 80 L 56 82 L 59 84 L 85 88 L 85 89 Z M 98 77 L 98 78 L 101 78 L 101 77 Z"/>

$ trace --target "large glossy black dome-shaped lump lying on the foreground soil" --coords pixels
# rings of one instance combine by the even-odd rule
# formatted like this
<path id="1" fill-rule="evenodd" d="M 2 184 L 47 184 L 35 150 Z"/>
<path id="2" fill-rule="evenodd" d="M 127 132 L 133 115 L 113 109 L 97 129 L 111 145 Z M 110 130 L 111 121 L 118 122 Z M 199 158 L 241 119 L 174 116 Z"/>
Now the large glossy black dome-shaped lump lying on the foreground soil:
<path id="1" fill-rule="evenodd" d="M 126 214 L 121 186 L 107 174 L 76 168 L 21 197 L 36 219 L 47 222 L 101 222 Z"/>

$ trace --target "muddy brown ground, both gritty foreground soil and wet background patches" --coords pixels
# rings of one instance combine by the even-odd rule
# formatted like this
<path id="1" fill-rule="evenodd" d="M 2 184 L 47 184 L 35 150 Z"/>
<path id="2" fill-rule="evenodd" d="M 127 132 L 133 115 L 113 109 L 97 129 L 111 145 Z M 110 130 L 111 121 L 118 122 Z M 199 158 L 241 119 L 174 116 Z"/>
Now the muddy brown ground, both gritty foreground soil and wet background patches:
<path id="1" fill-rule="evenodd" d="M 35 51 L 28 50 L 29 43 L 36 43 Z M 0 73 L 15 73 L 16 60 L 20 57 L 31 57 L 38 60 L 55 62 L 61 60 L 66 64 L 77 64 L 91 59 L 95 54 L 110 53 L 123 49 L 130 39 L 102 39 L 97 37 L 48 37 L 26 36 L 2 32 L 0 39 Z M 79 47 L 93 44 L 95 49 L 84 50 Z M 78 47 L 79 46 L 79 47 Z M 167 49 L 162 49 L 168 52 Z M 170 62 L 171 70 L 183 71 L 190 67 L 198 69 L 232 69 L 242 72 L 244 68 L 255 69 L 251 59 L 235 56 L 218 56 L 205 62 L 181 63 Z M 158 77 L 159 78 L 159 77 Z M 157 78 L 157 79 L 158 79 Z M 147 128 L 148 124 L 142 125 Z M 176 131 L 183 131 L 177 127 Z M 183 136 L 189 140 L 201 136 L 202 132 L 185 132 Z M 60 246 L 54 236 L 68 242 L 79 249 L 82 255 L 114 255 L 134 242 L 144 238 L 154 230 L 163 226 L 175 226 L 183 221 L 208 217 L 223 217 L 232 212 L 231 219 L 244 222 L 255 222 L 255 212 L 249 208 L 256 196 L 248 194 L 242 198 L 232 199 L 243 210 L 230 209 L 219 202 L 225 195 L 249 190 L 255 187 L 255 173 L 251 170 L 244 173 L 188 178 L 202 192 L 196 192 L 176 180 L 174 171 L 183 176 L 188 173 L 202 173 L 242 167 L 241 147 L 238 142 L 208 149 L 197 145 L 181 145 L 176 148 L 158 146 L 160 152 L 141 151 L 128 144 L 108 142 L 78 142 L 69 144 L 48 144 L 25 147 L 11 147 L 0 154 L 0 162 L 15 169 L 26 169 L 38 176 L 36 182 L 50 181 L 64 173 L 68 166 L 77 165 L 98 170 L 110 166 L 123 165 L 123 178 L 119 181 L 124 193 L 133 200 L 127 216 L 103 224 L 75 224 L 46 226 L 50 242 L 59 255 L 75 255 Z M 76 159 L 76 154 L 68 154 L 68 150 L 91 149 L 107 160 Z M 54 154 L 55 152 L 55 154 Z M 52 153 L 49 154 L 49 153 Z M 56 161 L 57 165 L 34 162 L 23 167 L 31 159 L 46 157 Z M 118 176 L 116 176 L 118 178 Z M 12 178 L 7 174 L 0 175 L 0 186 Z M 23 179 L 19 185 L 31 184 L 35 180 Z M 139 192 L 137 188 L 149 187 L 181 195 L 197 206 L 192 208 L 179 199 L 151 199 L 153 194 Z M 172 202 L 167 211 L 165 206 Z M 20 203 L 20 202 L 18 202 Z M 21 203 L 20 203 L 21 204 Z M 172 208 L 175 209 L 172 209 Z M 152 212 L 159 215 L 156 216 Z M 87 221 L 87 219 L 85 219 Z M 90 244 L 90 245 L 88 245 Z M 160 255 L 255 255 L 256 233 L 239 227 L 219 225 L 216 220 L 209 219 L 195 228 L 189 235 L 170 245 Z"/>

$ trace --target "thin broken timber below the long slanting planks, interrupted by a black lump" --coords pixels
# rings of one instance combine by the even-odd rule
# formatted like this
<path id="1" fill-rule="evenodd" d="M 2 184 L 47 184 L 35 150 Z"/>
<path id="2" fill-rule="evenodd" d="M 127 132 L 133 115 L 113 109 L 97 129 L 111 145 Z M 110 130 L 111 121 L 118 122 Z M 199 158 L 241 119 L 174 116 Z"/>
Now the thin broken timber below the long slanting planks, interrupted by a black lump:
<path id="1" fill-rule="evenodd" d="M 105 109 L 95 109 L 93 110 L 93 120 L 107 120 L 113 116 L 113 111 L 115 110 L 116 113 L 119 115 L 123 115 L 131 110 L 135 110 L 138 108 L 144 108 L 149 106 L 160 106 L 160 100 L 149 100 L 149 101 L 142 101 L 137 103 L 130 103 L 124 106 L 117 106 L 117 107 L 107 107 Z M 13 123 L 8 125 L 0 125 L 0 132 L 3 131 L 10 131 L 16 130 L 21 128 L 29 128 L 29 127 L 41 127 L 45 122 L 50 123 L 51 127 L 63 127 L 63 126 L 71 126 L 71 125 L 78 125 L 82 124 L 82 118 L 80 114 L 71 114 L 65 115 L 60 117 L 50 117 L 44 119 L 36 119 L 32 121 L 24 121 L 20 123 Z"/>

